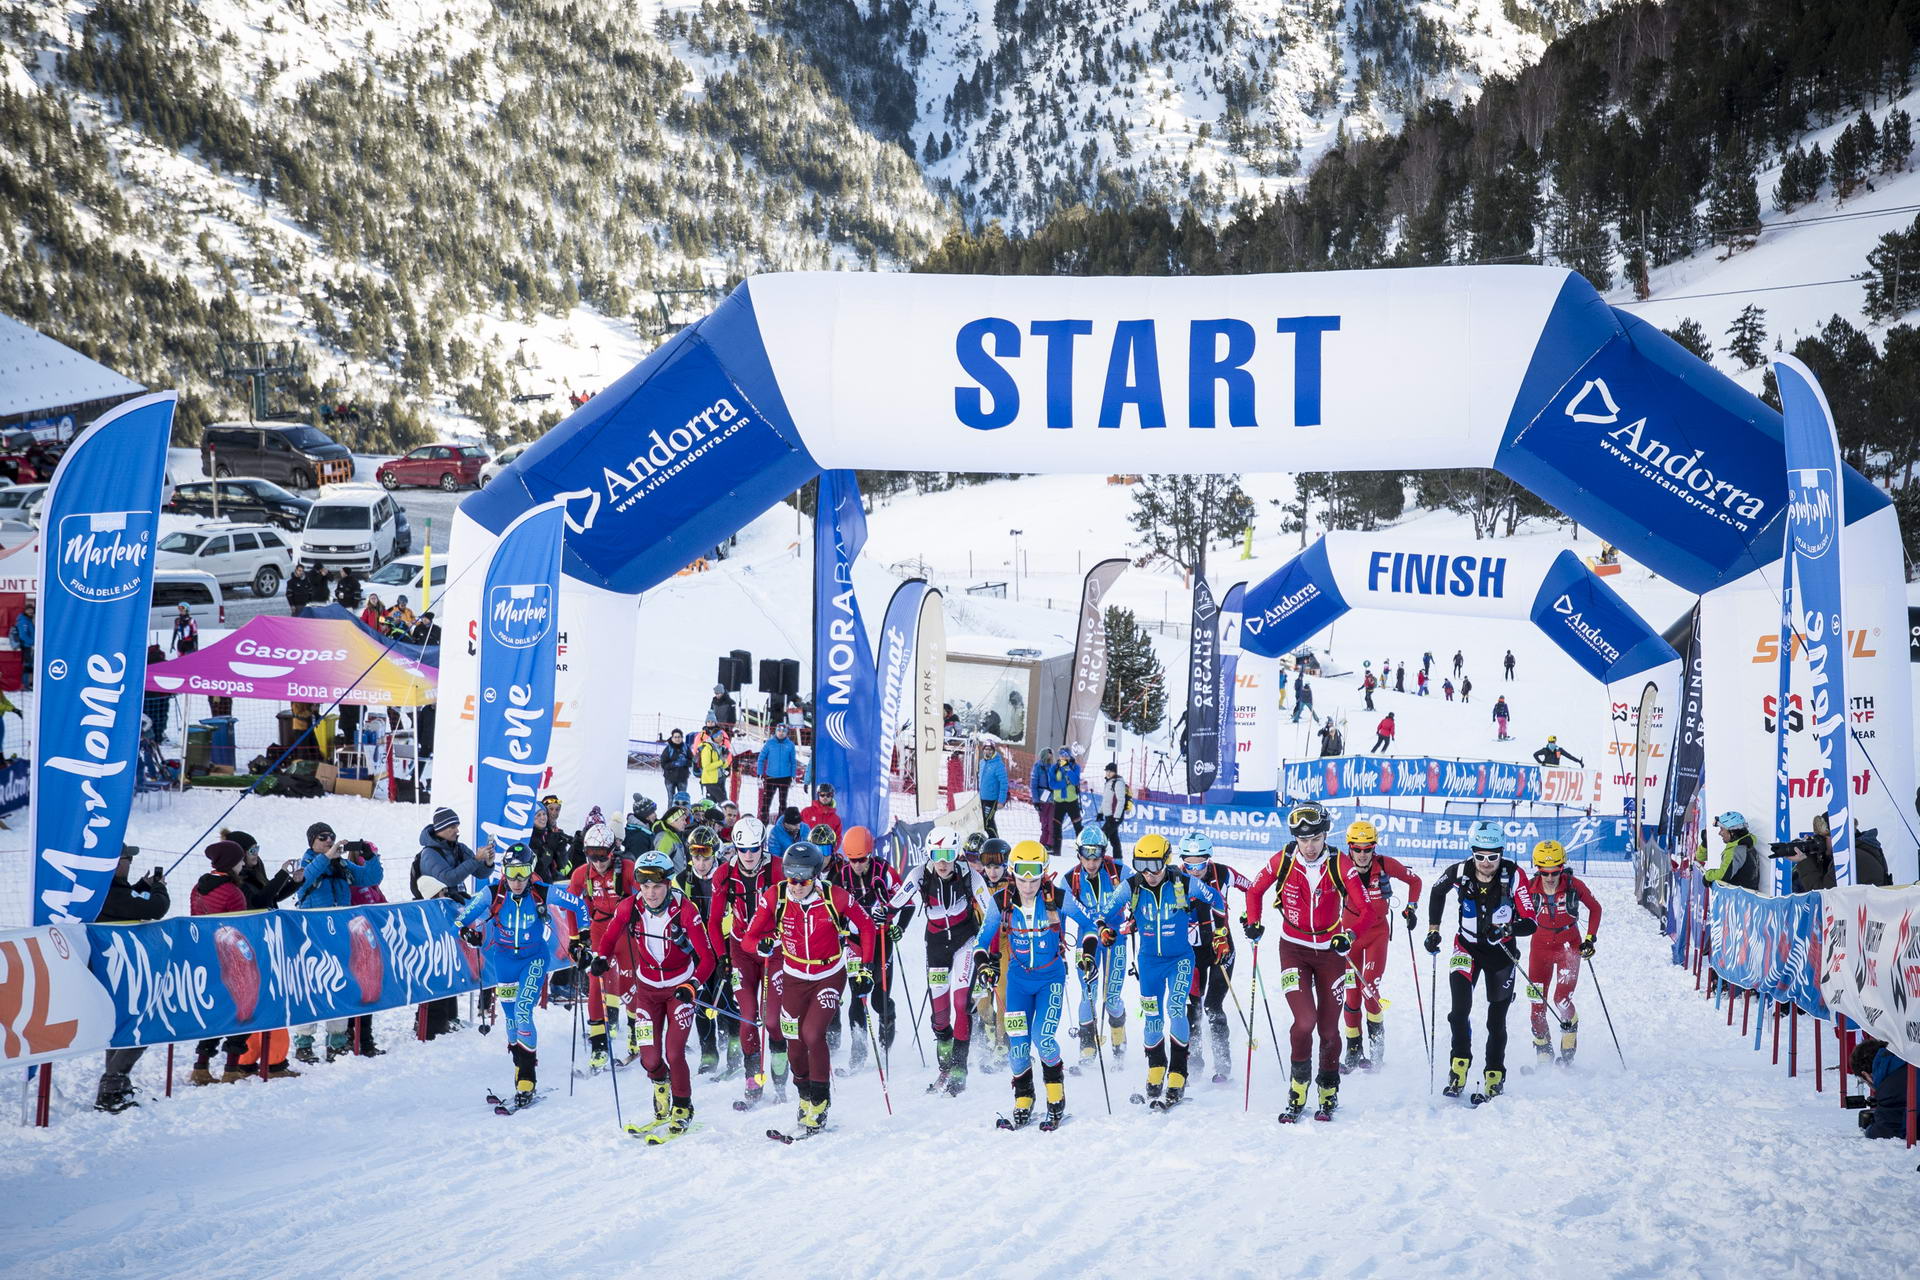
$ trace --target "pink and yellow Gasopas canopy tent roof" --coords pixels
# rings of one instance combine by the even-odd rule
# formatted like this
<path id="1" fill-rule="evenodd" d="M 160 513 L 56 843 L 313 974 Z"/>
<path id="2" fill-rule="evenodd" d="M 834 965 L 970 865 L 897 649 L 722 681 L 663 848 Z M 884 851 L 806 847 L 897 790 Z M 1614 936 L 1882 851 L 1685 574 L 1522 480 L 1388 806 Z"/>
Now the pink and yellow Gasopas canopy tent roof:
<path id="1" fill-rule="evenodd" d="M 146 687 L 273 702 L 430 706 L 440 672 L 388 651 L 355 622 L 263 616 L 198 652 L 148 666 Z"/>

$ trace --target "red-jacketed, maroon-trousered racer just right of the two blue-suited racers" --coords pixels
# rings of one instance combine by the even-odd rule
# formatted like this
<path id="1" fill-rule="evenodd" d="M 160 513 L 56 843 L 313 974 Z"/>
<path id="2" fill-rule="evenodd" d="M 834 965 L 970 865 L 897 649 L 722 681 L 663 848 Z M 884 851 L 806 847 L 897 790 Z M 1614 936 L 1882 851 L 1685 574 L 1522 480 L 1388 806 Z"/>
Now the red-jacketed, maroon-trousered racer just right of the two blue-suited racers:
<path id="1" fill-rule="evenodd" d="M 1260 915 L 1271 889 L 1273 906 L 1281 910 L 1281 990 L 1294 1013 L 1286 1111 L 1279 1119 L 1292 1125 L 1308 1107 L 1309 1079 L 1319 1084 L 1313 1119 L 1331 1121 L 1340 1105 L 1340 992 L 1363 890 L 1342 867 L 1340 850 L 1327 844 L 1332 814 L 1319 804 L 1296 804 L 1286 814 L 1286 829 L 1294 839 L 1254 877 L 1240 927 L 1248 942 L 1260 942 L 1265 933 Z M 1315 1031 L 1317 1075 L 1311 1057 Z"/>

